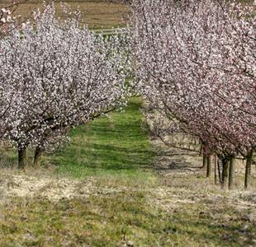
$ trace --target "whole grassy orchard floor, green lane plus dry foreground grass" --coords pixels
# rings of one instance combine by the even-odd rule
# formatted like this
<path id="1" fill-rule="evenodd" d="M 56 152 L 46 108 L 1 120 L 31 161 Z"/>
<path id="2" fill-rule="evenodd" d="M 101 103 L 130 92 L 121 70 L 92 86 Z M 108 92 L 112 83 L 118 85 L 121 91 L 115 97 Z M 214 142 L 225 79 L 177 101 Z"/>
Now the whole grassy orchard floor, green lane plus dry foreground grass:
<path id="1" fill-rule="evenodd" d="M 40 168 L 15 170 L 2 151 L 0 245 L 256 245 L 255 167 L 252 190 L 220 189 L 200 157 L 149 137 L 141 105 L 73 129 Z"/>

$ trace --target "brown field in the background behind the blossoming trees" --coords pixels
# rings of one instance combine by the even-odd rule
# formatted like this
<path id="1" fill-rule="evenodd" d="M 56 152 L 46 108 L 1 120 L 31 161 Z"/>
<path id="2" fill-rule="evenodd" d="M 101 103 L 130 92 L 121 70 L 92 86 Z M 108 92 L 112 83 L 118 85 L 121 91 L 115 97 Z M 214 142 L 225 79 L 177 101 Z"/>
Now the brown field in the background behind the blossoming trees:
<path id="1" fill-rule="evenodd" d="M 5 6 L 5 1 L 0 1 L 0 7 Z M 129 7 L 120 2 L 107 1 L 63 1 L 67 2 L 72 10 L 78 7 L 83 13 L 82 24 L 88 25 L 92 29 L 110 28 L 116 26 L 126 26 L 129 15 Z M 17 15 L 30 16 L 31 12 L 43 6 L 42 1 L 29 1 L 21 4 L 16 11 Z M 55 3 L 57 15 L 59 12 L 59 2 Z"/>

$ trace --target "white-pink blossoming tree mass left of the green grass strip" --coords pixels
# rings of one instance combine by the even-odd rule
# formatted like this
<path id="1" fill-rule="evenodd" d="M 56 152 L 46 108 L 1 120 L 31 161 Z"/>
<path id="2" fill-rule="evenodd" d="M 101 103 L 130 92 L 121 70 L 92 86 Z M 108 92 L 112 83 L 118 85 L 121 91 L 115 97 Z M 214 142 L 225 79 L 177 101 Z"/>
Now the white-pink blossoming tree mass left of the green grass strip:
<path id="1" fill-rule="evenodd" d="M 79 26 L 78 12 L 66 14 L 60 21 L 49 5 L 0 41 L 2 126 L 17 143 L 21 168 L 26 147 L 36 147 L 38 161 L 67 129 L 126 104 L 121 35 L 96 35 Z"/>

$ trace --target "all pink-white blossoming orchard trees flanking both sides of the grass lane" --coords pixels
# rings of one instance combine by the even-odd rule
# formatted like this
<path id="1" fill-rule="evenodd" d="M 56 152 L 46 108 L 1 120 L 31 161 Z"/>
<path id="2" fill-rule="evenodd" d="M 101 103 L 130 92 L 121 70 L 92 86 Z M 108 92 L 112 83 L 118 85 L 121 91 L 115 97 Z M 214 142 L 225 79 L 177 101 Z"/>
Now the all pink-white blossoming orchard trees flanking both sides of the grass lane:
<path id="1" fill-rule="evenodd" d="M 27 147 L 64 143 L 69 128 L 126 105 L 140 92 L 159 110 L 159 137 L 185 133 L 205 157 L 216 155 L 222 185 L 234 159 L 256 143 L 256 21 L 252 7 L 222 0 L 133 0 L 124 35 L 79 26 L 79 12 L 51 4 L 17 25 L 2 9 L 1 138 L 16 143 L 19 166 Z M 127 35 L 128 34 L 128 35 Z M 128 78 L 132 78 L 128 80 Z"/>

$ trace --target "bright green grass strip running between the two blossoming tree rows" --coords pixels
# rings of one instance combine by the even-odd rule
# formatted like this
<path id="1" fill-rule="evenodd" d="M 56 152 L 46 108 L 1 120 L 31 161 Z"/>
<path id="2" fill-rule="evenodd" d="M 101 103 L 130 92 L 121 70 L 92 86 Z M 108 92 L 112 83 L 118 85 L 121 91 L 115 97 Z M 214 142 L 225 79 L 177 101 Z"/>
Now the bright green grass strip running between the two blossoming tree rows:
<path id="1" fill-rule="evenodd" d="M 142 129 L 141 99 L 132 99 L 124 113 L 101 117 L 74 128 L 70 145 L 51 157 L 57 172 L 75 178 L 91 175 L 145 176 L 154 152 Z"/>

